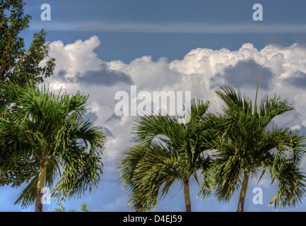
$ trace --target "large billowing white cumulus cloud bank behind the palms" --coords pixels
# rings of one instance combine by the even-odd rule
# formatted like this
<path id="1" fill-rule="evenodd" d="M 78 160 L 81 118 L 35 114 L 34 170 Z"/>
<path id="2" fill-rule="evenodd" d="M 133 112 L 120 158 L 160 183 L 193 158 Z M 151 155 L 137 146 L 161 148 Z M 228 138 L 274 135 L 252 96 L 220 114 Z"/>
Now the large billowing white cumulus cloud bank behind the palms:
<path id="1" fill-rule="evenodd" d="M 82 93 L 90 94 L 88 117 L 95 120 L 95 124 L 102 126 L 107 133 L 107 144 L 102 156 L 104 174 L 101 184 L 112 186 L 112 191 L 121 191 L 121 185 L 114 179 L 117 177 L 114 162 L 119 154 L 132 144 L 131 126 L 135 119 L 117 117 L 114 114 L 114 105 L 117 102 L 114 100 L 114 94 L 119 90 L 129 93 L 131 84 L 136 85 L 139 92 L 192 91 L 192 97 L 211 100 L 210 111 L 213 112 L 219 110 L 222 105 L 215 93 L 218 85 L 233 85 L 253 98 L 258 75 L 261 97 L 265 93 L 276 93 L 283 99 L 288 97 L 295 107 L 294 112 L 276 117 L 275 123 L 306 132 L 305 45 L 282 47 L 269 44 L 263 49 L 256 49 L 253 44 L 246 43 L 235 51 L 224 48 L 197 48 L 190 50 L 183 59 L 168 61 L 160 58 L 153 61 L 150 56 L 143 56 L 124 64 L 122 61 L 99 59 L 94 52 L 99 44 L 97 36 L 66 45 L 61 41 L 52 42 L 51 57 L 57 59 L 57 68 L 54 76 L 46 82 L 55 90 L 62 86 L 63 90 L 69 93 L 81 90 Z M 105 186 L 102 185 L 102 188 L 105 189 Z M 198 189 L 196 185 L 192 186 L 194 190 Z M 177 189 L 174 188 L 173 192 L 177 192 Z M 273 189 L 275 191 L 275 188 Z M 107 208 L 116 210 L 118 206 L 125 205 L 126 199 L 124 192 L 117 196 L 112 191 L 105 191 L 107 198 L 103 201 Z M 98 191 L 95 194 L 98 194 Z M 171 198 L 165 199 L 165 203 L 172 202 Z M 208 203 L 216 202 L 211 199 Z M 128 209 L 124 207 L 120 210 Z M 158 206 L 158 210 L 169 208 L 167 205 Z"/>

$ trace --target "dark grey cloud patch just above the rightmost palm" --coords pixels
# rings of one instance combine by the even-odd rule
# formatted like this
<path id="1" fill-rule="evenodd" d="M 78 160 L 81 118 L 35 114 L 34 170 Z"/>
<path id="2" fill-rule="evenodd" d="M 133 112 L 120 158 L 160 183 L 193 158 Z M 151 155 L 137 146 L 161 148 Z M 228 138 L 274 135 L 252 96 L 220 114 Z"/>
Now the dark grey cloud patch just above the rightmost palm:
<path id="1" fill-rule="evenodd" d="M 223 75 L 220 73 L 212 79 L 212 83 L 218 84 L 220 78 L 225 79 L 225 83 L 235 88 L 252 87 L 256 85 L 256 78 L 259 79 L 259 88 L 268 90 L 271 85 L 273 73 L 270 69 L 257 64 L 254 60 L 239 61 L 235 66 L 225 68 Z"/>

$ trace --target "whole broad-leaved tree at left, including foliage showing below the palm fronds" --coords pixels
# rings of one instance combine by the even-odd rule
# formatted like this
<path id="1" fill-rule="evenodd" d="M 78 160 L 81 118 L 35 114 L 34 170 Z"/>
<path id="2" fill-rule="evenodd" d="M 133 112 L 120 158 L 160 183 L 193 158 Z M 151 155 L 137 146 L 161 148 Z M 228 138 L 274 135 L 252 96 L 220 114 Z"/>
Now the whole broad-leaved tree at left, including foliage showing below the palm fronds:
<path id="1" fill-rule="evenodd" d="M 45 30 L 35 33 L 30 46 L 25 49 L 25 42 L 23 37 L 20 37 L 20 32 L 29 27 L 31 19 L 30 15 L 24 13 L 25 3 L 22 0 L 1 0 L 0 5 L 1 121 L 8 103 L 11 103 L 6 95 L 4 84 L 8 81 L 18 85 L 41 83 L 44 78 L 52 74 L 55 60 L 49 57 L 49 45 L 45 42 Z M 0 152 L 2 152 L 6 150 L 6 142 L 4 142 L 4 138 L 0 140 Z M 14 164 L 6 161 L 5 165 L 2 162 L 0 167 L 0 185 L 2 186 L 7 184 L 19 186 L 28 179 L 30 172 L 35 171 L 35 167 L 30 165 L 30 160 L 27 158 L 20 158 Z"/>

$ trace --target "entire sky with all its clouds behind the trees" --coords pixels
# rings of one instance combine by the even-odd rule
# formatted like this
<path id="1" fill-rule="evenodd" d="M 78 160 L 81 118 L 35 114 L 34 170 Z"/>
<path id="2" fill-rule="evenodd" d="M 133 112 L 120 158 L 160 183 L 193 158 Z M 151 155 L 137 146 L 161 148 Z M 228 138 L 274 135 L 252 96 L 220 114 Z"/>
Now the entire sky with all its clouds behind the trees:
<path id="1" fill-rule="evenodd" d="M 237 0 L 28 0 L 25 12 L 33 19 L 22 32 L 30 44 L 44 28 L 50 56 L 56 59 L 54 75 L 45 83 L 53 90 L 89 94 L 91 119 L 102 126 L 107 143 L 102 156 L 100 184 L 81 198 L 71 198 L 66 209 L 129 211 L 128 196 L 118 183 L 114 163 L 133 144 L 135 117 L 118 117 L 114 95 L 131 85 L 137 91 L 191 91 L 192 97 L 210 100 L 210 111 L 220 109 L 219 85 L 239 88 L 254 99 L 256 77 L 259 95 L 281 95 L 295 110 L 273 123 L 291 126 L 306 135 L 306 1 Z M 49 4 L 51 20 L 42 20 L 42 4 Z M 261 4 L 263 20 L 254 20 L 254 4 Z M 300 166 L 306 172 L 306 162 Z M 193 211 L 235 211 L 239 192 L 228 203 L 215 197 L 196 198 L 199 185 L 191 180 Z M 255 188 L 263 203 L 254 204 Z M 20 189 L 0 188 L 0 211 L 33 211 L 13 206 Z M 254 190 L 255 189 L 255 190 Z M 255 191 L 255 192 L 254 192 Z M 276 209 L 269 202 L 276 194 L 267 174 L 249 181 L 245 211 L 305 211 L 306 200 L 295 208 Z M 57 203 L 44 206 L 52 211 Z M 173 184 L 154 211 L 184 211 L 182 184 Z"/>

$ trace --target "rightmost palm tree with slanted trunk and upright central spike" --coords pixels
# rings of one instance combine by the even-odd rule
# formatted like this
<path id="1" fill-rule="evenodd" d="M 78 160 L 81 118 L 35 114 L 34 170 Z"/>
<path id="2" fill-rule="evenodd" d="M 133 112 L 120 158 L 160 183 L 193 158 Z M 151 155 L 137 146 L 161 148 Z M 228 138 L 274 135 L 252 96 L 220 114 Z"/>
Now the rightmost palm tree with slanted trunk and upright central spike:
<path id="1" fill-rule="evenodd" d="M 305 136 L 290 127 L 269 128 L 274 117 L 293 110 L 288 99 L 265 95 L 257 106 L 258 85 L 254 105 L 228 85 L 220 86 L 216 93 L 225 102 L 224 113 L 210 114 L 206 126 L 218 137 L 212 145 L 217 150 L 214 179 L 218 201 L 229 201 L 235 189 L 241 188 L 237 211 L 242 212 L 249 177 L 262 177 L 269 169 L 271 184 L 278 179 L 278 192 L 270 204 L 295 206 L 305 194 L 305 176 L 298 168 L 305 157 Z"/>

